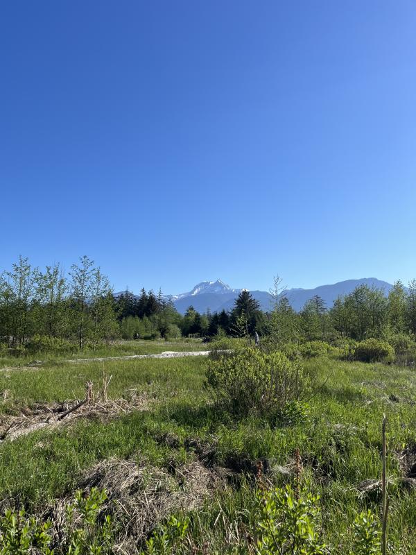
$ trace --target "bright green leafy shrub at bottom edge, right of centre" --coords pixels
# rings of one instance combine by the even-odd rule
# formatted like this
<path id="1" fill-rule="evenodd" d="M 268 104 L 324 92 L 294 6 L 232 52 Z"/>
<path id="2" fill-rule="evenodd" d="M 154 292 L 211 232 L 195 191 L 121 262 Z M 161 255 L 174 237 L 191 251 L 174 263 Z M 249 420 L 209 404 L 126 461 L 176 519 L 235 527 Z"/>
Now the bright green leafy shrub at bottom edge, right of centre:
<path id="1" fill-rule="evenodd" d="M 319 496 L 308 490 L 285 488 L 259 490 L 261 515 L 257 522 L 257 555 L 323 555 L 315 521 Z"/>

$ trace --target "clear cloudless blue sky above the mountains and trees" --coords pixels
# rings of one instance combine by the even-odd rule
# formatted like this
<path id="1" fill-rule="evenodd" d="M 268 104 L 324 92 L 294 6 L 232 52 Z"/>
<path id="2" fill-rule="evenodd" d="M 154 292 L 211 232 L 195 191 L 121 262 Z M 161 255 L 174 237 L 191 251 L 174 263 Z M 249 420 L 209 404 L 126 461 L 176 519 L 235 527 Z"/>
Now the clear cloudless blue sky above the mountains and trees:
<path id="1" fill-rule="evenodd" d="M 116 289 L 416 277 L 416 3 L 0 10 L 0 268 Z"/>

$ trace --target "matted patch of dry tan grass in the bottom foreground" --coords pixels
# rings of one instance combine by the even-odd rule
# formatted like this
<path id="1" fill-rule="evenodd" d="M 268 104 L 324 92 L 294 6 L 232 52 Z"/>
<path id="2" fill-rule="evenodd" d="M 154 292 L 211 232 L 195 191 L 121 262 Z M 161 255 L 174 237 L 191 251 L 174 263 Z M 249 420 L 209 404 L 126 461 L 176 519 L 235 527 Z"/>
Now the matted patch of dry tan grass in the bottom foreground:
<path id="1" fill-rule="evenodd" d="M 175 511 L 197 509 L 220 486 L 223 481 L 216 472 L 196 461 L 170 473 L 120 459 L 96 464 L 79 484 L 85 492 L 94 487 L 106 491 L 103 513 L 110 514 L 117 525 L 114 551 L 123 554 L 138 553 L 159 522 Z M 67 518 L 65 506 L 73 499 L 73 494 L 59 499 L 43 515 L 53 522 L 56 543 L 62 542 Z"/>

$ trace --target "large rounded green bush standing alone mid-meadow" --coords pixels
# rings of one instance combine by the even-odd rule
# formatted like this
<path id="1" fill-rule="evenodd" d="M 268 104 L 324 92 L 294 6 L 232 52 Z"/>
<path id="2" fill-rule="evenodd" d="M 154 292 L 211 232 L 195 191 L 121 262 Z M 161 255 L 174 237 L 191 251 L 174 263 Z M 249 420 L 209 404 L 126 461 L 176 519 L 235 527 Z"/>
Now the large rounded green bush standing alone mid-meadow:
<path id="1" fill-rule="evenodd" d="M 309 385 L 300 361 L 254 348 L 210 361 L 207 381 L 230 411 L 272 420 L 288 414 L 293 420 L 297 407 L 303 409 L 299 401 Z"/>

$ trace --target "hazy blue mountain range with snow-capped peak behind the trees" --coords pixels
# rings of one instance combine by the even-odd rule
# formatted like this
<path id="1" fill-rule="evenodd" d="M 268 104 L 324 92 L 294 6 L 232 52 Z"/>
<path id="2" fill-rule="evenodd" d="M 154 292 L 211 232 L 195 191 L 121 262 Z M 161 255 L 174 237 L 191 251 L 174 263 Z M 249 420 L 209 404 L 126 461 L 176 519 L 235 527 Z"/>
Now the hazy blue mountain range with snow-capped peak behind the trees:
<path id="1" fill-rule="evenodd" d="M 333 305 L 333 301 L 340 295 L 347 295 L 354 291 L 358 285 L 364 284 L 369 287 L 383 289 L 386 295 L 393 287 L 392 284 L 377 280 L 376 278 L 363 278 L 361 280 L 346 280 L 331 285 L 320 285 L 320 287 L 315 287 L 315 289 L 287 289 L 282 294 L 286 295 L 291 306 L 296 311 L 302 309 L 305 302 L 315 295 L 322 297 L 327 307 L 330 308 Z M 221 280 L 216 280 L 214 282 L 200 282 L 193 287 L 192 291 L 172 295 L 169 298 L 173 300 L 173 304 L 181 314 L 184 314 L 190 305 L 200 313 L 206 312 L 208 309 L 211 312 L 219 312 L 223 309 L 231 309 L 240 291 L 242 289 L 232 289 Z M 270 293 L 267 291 L 250 291 L 250 293 L 259 301 L 262 310 L 268 311 L 271 309 L 272 296 Z M 116 296 L 121 294 L 116 293 Z"/>

